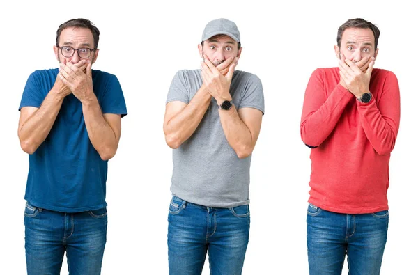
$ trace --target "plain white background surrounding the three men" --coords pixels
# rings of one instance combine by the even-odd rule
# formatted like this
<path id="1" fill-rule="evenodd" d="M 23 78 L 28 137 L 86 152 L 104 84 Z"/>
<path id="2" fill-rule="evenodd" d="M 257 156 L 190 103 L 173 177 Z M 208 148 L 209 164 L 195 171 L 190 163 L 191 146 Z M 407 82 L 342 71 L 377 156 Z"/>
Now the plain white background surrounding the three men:
<path id="1" fill-rule="evenodd" d="M 132 1 L 133 2 L 133 1 Z M 3 6 L 5 5 L 5 6 Z M 233 20 L 241 32 L 238 70 L 263 82 L 265 116 L 251 162 L 251 232 L 243 274 L 308 274 L 306 210 L 309 148 L 299 125 L 307 81 L 337 65 L 336 31 L 363 17 L 381 31 L 376 68 L 401 88 L 401 127 L 390 162 L 390 222 L 381 274 L 414 274 L 417 176 L 417 21 L 403 1 L 14 1 L 0 10 L 0 274 L 26 274 L 24 190 L 28 156 L 17 121 L 34 70 L 56 68 L 56 29 L 86 17 L 100 29 L 93 68 L 116 74 L 127 102 L 118 153 L 109 161 L 109 227 L 102 274 L 168 274 L 167 210 L 171 149 L 164 142 L 165 99 L 178 70 L 199 68 L 207 22 Z M 26 54 L 28 49 L 35 54 Z M 415 220 L 415 221 L 414 221 Z M 66 271 L 66 260 L 63 272 Z M 343 274 L 347 274 L 344 267 Z M 203 274 L 209 274 L 205 265 Z"/>

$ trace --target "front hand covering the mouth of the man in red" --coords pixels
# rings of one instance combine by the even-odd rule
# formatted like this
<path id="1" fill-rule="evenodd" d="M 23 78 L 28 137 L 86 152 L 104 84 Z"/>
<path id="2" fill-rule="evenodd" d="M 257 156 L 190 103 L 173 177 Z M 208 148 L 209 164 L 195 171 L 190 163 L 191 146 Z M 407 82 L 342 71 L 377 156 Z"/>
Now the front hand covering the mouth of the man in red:
<path id="1" fill-rule="evenodd" d="M 359 61 L 359 63 L 364 62 L 362 67 L 369 63 L 366 72 L 363 72 L 355 63 L 342 57 L 339 62 L 340 84 L 346 84 L 345 88 L 357 98 L 361 97 L 363 93 L 369 93 L 370 77 L 375 58 L 371 57 L 370 61 L 364 61 L 363 58 L 362 61 Z"/>

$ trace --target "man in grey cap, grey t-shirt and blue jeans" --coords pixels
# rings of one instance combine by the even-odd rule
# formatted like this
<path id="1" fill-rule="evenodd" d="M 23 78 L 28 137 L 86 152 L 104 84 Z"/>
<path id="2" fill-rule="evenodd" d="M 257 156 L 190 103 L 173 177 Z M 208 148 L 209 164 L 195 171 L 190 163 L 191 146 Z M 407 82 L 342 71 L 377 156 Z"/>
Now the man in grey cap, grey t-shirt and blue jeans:
<path id="1" fill-rule="evenodd" d="M 235 70 L 242 48 L 235 23 L 203 31 L 199 70 L 181 70 L 167 96 L 164 134 L 173 150 L 170 274 L 241 274 L 249 235 L 249 166 L 264 97 L 254 74 Z"/>

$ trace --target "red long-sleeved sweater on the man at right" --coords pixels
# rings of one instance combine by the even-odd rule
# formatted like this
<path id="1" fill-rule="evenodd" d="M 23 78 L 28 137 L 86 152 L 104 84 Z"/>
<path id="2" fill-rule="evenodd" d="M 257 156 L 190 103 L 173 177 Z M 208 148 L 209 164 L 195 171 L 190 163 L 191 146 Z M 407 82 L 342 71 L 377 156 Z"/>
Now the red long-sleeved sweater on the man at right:
<path id="1" fill-rule="evenodd" d="M 324 210 L 363 214 L 387 210 L 389 158 L 399 128 L 398 80 L 373 69 L 369 103 L 339 84 L 339 68 L 312 73 L 300 134 L 311 149 L 312 203 Z"/>

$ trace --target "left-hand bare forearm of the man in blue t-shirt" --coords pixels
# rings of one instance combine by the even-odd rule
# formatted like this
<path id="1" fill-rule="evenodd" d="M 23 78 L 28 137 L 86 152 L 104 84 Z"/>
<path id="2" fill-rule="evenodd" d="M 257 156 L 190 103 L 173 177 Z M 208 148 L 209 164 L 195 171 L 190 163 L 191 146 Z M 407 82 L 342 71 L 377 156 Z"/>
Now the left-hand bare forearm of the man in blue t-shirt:
<path id="1" fill-rule="evenodd" d="M 56 116 L 58 116 L 64 97 L 65 95 L 52 88 L 39 109 L 32 113 L 26 121 L 20 123 L 18 135 L 20 146 L 24 152 L 33 154 L 40 144 L 45 141 L 52 125 L 54 125 Z"/>

